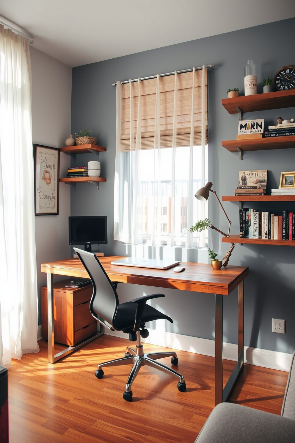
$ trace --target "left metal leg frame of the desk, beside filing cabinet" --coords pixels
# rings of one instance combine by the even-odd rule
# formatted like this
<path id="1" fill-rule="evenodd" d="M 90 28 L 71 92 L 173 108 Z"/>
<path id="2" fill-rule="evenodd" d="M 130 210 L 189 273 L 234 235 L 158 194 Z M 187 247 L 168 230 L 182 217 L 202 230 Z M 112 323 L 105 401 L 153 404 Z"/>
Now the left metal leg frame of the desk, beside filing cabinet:
<path id="1" fill-rule="evenodd" d="M 47 313 L 48 313 L 48 361 L 49 363 L 55 363 L 56 361 L 64 358 L 66 355 L 71 354 L 87 343 L 92 342 L 96 338 L 104 334 L 103 326 L 100 325 L 100 330 L 96 334 L 91 335 L 83 342 L 78 343 L 75 346 L 69 346 L 54 354 L 54 301 L 53 301 L 53 274 L 47 274 Z"/>

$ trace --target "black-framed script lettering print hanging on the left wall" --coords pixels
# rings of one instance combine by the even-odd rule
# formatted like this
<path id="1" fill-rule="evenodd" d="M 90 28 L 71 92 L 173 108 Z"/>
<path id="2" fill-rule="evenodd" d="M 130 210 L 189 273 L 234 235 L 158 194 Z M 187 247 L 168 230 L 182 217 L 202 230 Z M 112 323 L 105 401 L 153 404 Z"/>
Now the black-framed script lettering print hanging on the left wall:
<path id="1" fill-rule="evenodd" d="M 34 144 L 35 215 L 59 214 L 59 149 Z"/>

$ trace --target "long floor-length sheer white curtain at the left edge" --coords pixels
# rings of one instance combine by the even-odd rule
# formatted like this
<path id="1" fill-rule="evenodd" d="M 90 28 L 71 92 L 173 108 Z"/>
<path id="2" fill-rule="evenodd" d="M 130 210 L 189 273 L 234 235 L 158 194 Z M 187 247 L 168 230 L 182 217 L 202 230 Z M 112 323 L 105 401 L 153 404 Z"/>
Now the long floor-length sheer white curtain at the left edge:
<path id="1" fill-rule="evenodd" d="M 29 41 L 0 25 L 0 364 L 38 352 Z"/>

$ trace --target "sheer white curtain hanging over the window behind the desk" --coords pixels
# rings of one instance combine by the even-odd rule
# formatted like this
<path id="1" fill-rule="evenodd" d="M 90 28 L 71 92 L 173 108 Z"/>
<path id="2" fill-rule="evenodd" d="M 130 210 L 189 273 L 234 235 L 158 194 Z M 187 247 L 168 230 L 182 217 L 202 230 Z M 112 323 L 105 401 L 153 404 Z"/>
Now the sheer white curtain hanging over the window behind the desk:
<path id="1" fill-rule="evenodd" d="M 151 245 L 205 246 L 205 236 L 196 238 L 189 232 L 198 218 L 205 218 L 206 210 L 205 203 L 194 198 L 207 179 L 206 67 L 198 77 L 198 92 L 195 73 L 195 68 L 187 73 L 179 89 L 181 74 L 175 71 L 174 86 L 169 80 L 168 99 L 164 95 L 169 88 L 159 74 L 149 86 L 147 81 L 130 80 L 128 91 L 127 85 L 123 90 L 120 82 L 116 84 L 115 240 L 139 244 L 149 237 Z M 172 115 L 165 115 L 164 100 Z M 196 147 L 197 125 L 202 136 Z M 187 144 L 184 137 L 178 140 L 184 131 L 188 132 Z"/>

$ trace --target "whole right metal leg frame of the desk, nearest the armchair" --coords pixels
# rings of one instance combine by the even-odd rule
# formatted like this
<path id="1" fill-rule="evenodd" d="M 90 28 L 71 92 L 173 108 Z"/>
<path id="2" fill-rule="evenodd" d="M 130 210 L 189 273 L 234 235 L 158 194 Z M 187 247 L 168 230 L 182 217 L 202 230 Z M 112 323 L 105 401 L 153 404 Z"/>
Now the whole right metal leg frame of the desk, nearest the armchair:
<path id="1" fill-rule="evenodd" d="M 220 301 L 221 300 L 221 301 Z M 244 365 L 244 281 L 238 286 L 238 361 L 222 391 L 222 295 L 215 295 L 215 405 L 226 401 Z"/>

